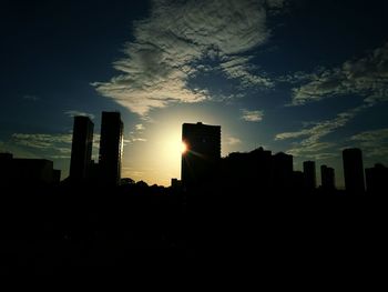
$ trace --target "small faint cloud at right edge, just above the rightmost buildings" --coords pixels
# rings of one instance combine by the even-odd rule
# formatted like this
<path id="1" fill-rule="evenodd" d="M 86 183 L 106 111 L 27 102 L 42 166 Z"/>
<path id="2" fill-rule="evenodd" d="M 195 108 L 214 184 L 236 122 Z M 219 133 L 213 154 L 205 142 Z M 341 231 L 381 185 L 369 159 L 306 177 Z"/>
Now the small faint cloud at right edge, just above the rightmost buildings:
<path id="1" fill-rule="evenodd" d="M 366 157 L 388 157 L 388 128 L 360 132 L 349 140 L 363 149 Z"/>

